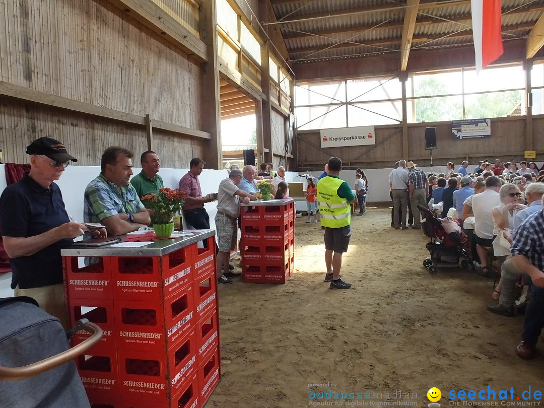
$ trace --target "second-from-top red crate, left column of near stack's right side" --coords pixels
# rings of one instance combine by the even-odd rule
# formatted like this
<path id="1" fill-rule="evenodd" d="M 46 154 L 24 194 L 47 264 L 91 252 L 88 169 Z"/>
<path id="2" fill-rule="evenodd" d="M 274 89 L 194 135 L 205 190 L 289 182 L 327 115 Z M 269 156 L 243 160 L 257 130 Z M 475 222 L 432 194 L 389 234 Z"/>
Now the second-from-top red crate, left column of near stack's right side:
<path id="1" fill-rule="evenodd" d="M 194 287 L 188 285 L 165 299 L 166 339 L 168 347 L 196 327 Z"/>

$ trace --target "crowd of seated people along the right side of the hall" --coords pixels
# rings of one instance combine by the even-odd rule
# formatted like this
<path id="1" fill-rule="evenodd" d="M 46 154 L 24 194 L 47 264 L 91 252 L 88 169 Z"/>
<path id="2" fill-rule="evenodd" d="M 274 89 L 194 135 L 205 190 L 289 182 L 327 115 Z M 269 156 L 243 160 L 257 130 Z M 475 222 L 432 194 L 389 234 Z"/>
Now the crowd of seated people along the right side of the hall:
<path id="1" fill-rule="evenodd" d="M 544 327 L 544 171 L 534 162 L 480 162 L 472 172 L 463 162 L 458 174 L 429 174 L 429 193 L 442 202 L 438 217 L 457 218 L 468 237 L 477 272 L 498 280 L 487 310 L 502 316 L 526 315 L 521 358 L 533 358 Z M 447 187 L 446 187 L 447 186 Z M 529 288 L 529 302 L 524 302 Z"/>

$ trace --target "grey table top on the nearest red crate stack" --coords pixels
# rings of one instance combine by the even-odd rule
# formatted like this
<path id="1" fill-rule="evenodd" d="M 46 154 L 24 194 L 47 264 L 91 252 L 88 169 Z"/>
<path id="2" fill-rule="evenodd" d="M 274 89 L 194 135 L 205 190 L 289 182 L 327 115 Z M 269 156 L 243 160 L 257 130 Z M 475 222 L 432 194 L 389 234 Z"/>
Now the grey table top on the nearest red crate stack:
<path id="1" fill-rule="evenodd" d="M 183 230 L 184 233 L 190 233 L 190 236 L 159 239 L 151 244 L 139 247 L 119 248 L 108 246 L 73 246 L 60 251 L 61 256 L 163 256 L 170 254 L 180 248 L 189 246 L 202 239 L 215 235 L 215 230 Z M 121 242 L 125 241 L 126 235 L 121 235 Z"/>

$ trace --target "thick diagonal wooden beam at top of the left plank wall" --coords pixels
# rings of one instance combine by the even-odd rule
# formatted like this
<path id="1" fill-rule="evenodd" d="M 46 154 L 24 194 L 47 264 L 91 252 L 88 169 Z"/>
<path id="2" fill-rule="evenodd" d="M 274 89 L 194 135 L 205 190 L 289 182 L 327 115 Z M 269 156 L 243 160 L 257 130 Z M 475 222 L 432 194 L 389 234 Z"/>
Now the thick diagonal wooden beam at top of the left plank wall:
<path id="1" fill-rule="evenodd" d="M 206 45 L 174 17 L 149 0 L 108 0 L 199 62 L 208 60 Z"/>

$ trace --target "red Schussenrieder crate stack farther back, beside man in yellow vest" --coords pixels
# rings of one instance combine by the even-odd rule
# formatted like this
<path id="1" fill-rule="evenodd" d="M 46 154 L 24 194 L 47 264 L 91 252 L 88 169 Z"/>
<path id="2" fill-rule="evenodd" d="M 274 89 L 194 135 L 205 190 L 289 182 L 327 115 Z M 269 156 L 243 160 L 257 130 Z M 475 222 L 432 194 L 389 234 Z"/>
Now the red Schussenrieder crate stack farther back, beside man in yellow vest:
<path id="1" fill-rule="evenodd" d="M 242 281 L 285 283 L 294 271 L 294 202 L 243 206 Z"/>

